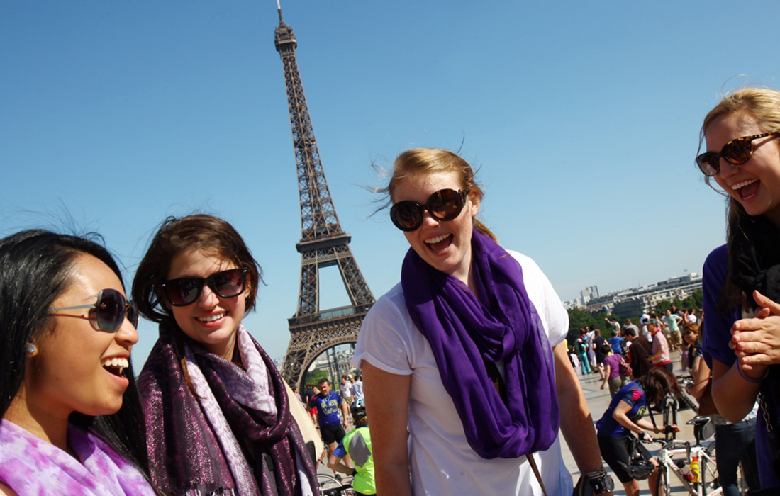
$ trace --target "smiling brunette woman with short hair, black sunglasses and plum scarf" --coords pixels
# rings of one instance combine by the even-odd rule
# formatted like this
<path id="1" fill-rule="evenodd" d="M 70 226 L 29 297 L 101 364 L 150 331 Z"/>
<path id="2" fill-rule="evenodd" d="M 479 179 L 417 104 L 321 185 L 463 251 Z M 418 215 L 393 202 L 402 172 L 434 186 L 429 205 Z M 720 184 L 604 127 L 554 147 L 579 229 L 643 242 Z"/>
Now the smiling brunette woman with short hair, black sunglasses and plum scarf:
<path id="1" fill-rule="evenodd" d="M 317 494 L 299 406 L 241 324 L 261 281 L 236 229 L 204 214 L 165 219 L 138 266 L 133 296 L 160 328 L 138 384 L 165 491 Z"/>

